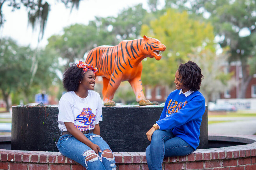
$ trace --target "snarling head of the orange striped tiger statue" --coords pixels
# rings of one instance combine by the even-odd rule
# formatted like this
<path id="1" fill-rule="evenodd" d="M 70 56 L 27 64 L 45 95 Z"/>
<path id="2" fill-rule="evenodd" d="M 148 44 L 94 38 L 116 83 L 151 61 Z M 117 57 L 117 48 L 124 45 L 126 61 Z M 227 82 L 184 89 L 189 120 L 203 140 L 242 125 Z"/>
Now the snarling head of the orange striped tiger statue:
<path id="1" fill-rule="evenodd" d="M 163 45 L 158 39 L 143 36 L 143 40 L 141 43 L 141 49 L 143 54 L 147 57 L 153 58 L 156 60 L 160 60 L 162 58 L 162 52 L 165 51 L 166 47 Z"/>

